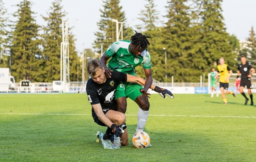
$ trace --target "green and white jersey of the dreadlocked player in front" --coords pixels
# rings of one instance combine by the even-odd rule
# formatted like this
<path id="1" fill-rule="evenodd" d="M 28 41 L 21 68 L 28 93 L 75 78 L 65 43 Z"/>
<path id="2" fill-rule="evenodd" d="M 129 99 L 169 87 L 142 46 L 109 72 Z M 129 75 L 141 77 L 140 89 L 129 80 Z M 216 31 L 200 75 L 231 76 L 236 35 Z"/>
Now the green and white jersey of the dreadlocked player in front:
<path id="1" fill-rule="evenodd" d="M 135 67 L 140 64 L 145 69 L 151 68 L 148 51 L 145 50 L 141 55 L 135 56 L 129 52 L 130 43 L 129 40 L 120 40 L 108 47 L 105 53 L 109 58 L 112 57 L 108 62 L 108 68 L 130 75 L 135 75 Z"/>

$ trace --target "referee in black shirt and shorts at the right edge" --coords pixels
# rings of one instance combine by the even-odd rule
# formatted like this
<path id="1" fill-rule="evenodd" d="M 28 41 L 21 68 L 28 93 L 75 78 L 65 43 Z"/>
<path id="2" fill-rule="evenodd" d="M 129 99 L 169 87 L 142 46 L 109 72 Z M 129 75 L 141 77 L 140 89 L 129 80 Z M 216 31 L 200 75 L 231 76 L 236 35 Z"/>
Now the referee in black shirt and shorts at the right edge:
<path id="1" fill-rule="evenodd" d="M 246 97 L 245 93 L 243 92 L 243 88 L 245 87 L 245 85 L 247 86 L 248 89 L 248 93 L 250 95 L 251 98 L 251 105 L 253 105 L 253 100 L 252 100 L 252 83 L 251 83 L 251 77 L 252 75 L 255 73 L 254 68 L 252 68 L 251 65 L 249 65 L 247 62 L 247 59 L 245 58 L 244 55 L 241 56 L 241 62 L 242 64 L 240 64 L 238 66 L 238 71 L 237 71 L 237 77 L 236 77 L 236 81 L 238 80 L 240 74 L 241 74 L 241 83 L 240 83 L 240 93 L 245 97 L 245 105 L 247 104 L 249 98 Z M 251 72 L 250 72 L 251 71 Z"/>

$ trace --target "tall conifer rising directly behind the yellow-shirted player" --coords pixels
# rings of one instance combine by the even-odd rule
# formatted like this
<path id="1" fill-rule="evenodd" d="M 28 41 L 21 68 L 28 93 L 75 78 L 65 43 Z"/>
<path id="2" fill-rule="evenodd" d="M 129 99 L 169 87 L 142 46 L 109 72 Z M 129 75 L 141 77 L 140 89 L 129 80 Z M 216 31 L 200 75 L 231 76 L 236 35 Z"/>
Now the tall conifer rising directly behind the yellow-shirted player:
<path id="1" fill-rule="evenodd" d="M 228 43 L 223 16 L 221 14 L 222 0 L 200 0 L 202 2 L 201 48 L 204 59 L 209 67 L 216 65 L 219 58 L 223 57 L 226 64 L 235 70 L 236 54 L 232 53 L 232 46 Z M 210 71 L 210 68 L 208 69 Z"/>

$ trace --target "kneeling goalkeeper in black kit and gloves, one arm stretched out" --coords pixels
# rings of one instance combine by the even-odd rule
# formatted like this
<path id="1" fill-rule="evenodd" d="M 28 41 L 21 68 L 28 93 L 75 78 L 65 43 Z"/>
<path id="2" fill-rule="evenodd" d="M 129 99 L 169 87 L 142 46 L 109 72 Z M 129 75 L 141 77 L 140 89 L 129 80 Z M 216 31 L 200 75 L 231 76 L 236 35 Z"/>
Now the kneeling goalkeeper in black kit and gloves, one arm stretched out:
<path id="1" fill-rule="evenodd" d="M 100 61 L 96 59 L 89 61 L 87 71 L 91 76 L 91 79 L 87 81 L 86 92 L 92 106 L 92 117 L 98 125 L 108 127 L 105 134 L 97 132 L 98 141 L 102 143 L 105 149 L 119 149 L 121 145 L 128 145 L 126 115 L 117 111 L 115 91 L 117 86 L 120 86 L 119 81 L 145 85 L 145 80 L 118 71 L 113 71 L 111 78 L 107 78 Z M 174 98 L 169 90 L 153 84 L 150 88 L 158 92 L 163 98 L 167 98 L 165 95 Z M 143 89 L 140 92 L 150 98 L 148 96 L 150 94 Z"/>

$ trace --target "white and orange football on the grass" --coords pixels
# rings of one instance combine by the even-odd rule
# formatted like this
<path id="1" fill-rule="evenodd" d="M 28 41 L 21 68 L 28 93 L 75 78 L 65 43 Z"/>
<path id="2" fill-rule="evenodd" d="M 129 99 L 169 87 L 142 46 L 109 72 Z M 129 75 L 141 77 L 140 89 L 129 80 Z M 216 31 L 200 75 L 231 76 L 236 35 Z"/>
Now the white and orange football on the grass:
<path id="1" fill-rule="evenodd" d="M 132 137 L 132 144 L 135 148 L 146 148 L 150 145 L 150 136 L 146 132 L 137 132 Z"/>

